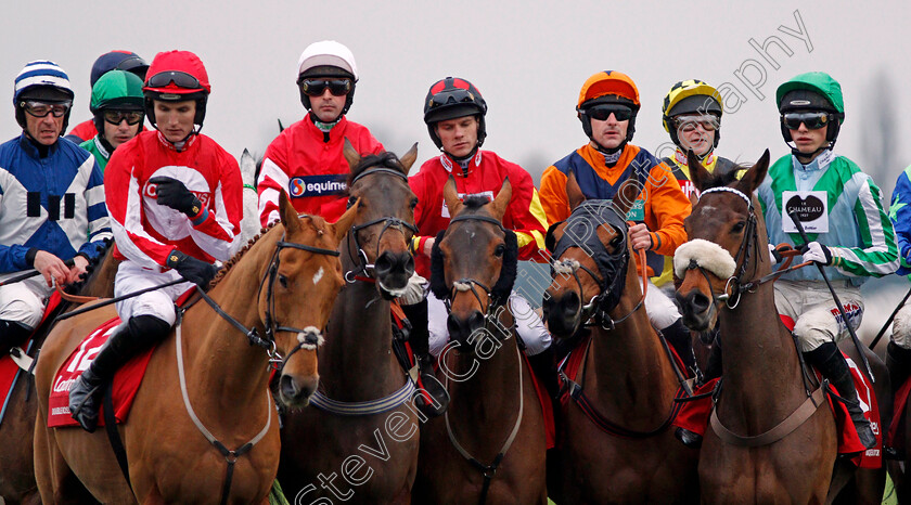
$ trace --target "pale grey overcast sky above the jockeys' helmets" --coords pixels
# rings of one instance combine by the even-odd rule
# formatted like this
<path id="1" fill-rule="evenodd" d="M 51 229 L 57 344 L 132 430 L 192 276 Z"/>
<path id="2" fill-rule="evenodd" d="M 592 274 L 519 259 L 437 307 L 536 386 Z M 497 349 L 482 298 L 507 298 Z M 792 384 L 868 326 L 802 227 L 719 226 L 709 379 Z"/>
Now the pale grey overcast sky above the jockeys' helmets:
<path id="1" fill-rule="evenodd" d="M 608 1 L 12 1 L 0 21 L 0 80 L 12 93 L 23 65 L 50 59 L 76 89 L 70 124 L 89 117 L 89 69 L 112 49 L 146 61 L 170 49 L 196 52 L 213 94 L 204 132 L 239 156 L 261 153 L 277 119 L 299 120 L 297 59 L 317 40 L 347 44 L 360 82 L 349 117 L 390 151 L 419 142 L 419 161 L 435 155 L 422 121 L 427 88 L 448 75 L 467 78 L 489 105 L 486 148 L 515 160 L 536 183 L 551 163 L 587 141 L 574 107 L 591 74 L 617 69 L 639 85 L 642 109 L 633 143 L 660 154 L 668 138 L 660 103 L 671 85 L 700 78 L 728 100 L 719 153 L 741 161 L 762 150 L 787 152 L 774 90 L 787 78 L 825 70 L 842 82 L 846 124 L 836 152 L 873 164 L 861 130 L 874 128 L 874 90 L 907 117 L 909 8 L 860 2 Z M 737 2 L 740 4 L 740 2 Z M 754 48 L 766 47 L 766 55 Z M 878 83 L 877 83 L 878 79 Z M 752 82 L 752 83 L 747 83 Z M 18 134 L 11 98 L 0 101 L 0 139 Z M 909 138 L 897 121 L 894 139 Z M 869 133 L 870 133 L 869 132 Z M 868 137 L 869 138 L 869 137 Z M 911 153 L 896 147 L 877 182 L 886 198 Z"/>

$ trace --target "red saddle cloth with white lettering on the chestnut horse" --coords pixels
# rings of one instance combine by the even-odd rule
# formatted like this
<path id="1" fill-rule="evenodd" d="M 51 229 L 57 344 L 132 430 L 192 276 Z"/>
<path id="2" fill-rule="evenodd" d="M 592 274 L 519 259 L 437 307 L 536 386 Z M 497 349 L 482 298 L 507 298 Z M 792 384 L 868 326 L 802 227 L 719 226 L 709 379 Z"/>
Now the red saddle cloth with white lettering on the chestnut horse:
<path id="1" fill-rule="evenodd" d="M 69 387 L 89 367 L 92 360 L 98 355 L 101 346 L 114 334 L 119 324 L 120 318 L 114 318 L 101 325 L 82 340 L 60 367 L 54 376 L 53 388 L 48 400 L 48 427 L 79 426 L 76 419 L 69 415 Z M 136 398 L 139 385 L 142 383 L 142 376 L 145 374 L 145 367 L 149 365 L 149 360 L 152 359 L 154 349 L 152 347 L 134 357 L 114 375 L 114 417 L 117 423 L 127 419 L 127 414 L 130 412 L 133 398 Z M 103 410 L 103 406 L 99 409 L 99 426 L 104 426 Z"/>

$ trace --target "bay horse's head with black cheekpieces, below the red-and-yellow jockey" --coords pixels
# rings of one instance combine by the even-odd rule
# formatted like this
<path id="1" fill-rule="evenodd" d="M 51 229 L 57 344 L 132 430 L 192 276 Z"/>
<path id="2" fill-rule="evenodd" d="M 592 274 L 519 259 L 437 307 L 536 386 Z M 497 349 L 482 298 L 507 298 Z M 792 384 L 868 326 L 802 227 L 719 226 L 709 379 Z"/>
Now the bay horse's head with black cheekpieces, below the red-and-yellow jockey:
<path id="1" fill-rule="evenodd" d="M 488 322 L 496 326 L 493 332 L 503 333 L 495 320 L 515 282 L 518 243 L 515 233 L 502 225 L 512 185 L 506 178 L 493 202 L 469 197 L 462 203 L 450 176 L 442 195 L 453 218 L 434 242 L 431 289 L 449 308 L 451 340 L 460 350 L 473 352 L 478 331 Z M 499 340 L 508 336 L 495 335 Z"/>

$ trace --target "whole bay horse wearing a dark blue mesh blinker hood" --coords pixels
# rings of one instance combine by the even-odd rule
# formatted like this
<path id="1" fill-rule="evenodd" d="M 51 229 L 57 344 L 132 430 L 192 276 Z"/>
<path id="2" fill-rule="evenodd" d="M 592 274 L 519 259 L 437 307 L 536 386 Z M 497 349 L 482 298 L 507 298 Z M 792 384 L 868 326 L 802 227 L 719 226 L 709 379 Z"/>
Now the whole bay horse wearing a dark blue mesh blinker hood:
<path id="1" fill-rule="evenodd" d="M 640 191 L 629 179 L 613 200 L 586 200 L 570 174 L 573 215 L 548 233 L 554 262 L 544 319 L 556 338 L 581 341 L 573 352 L 582 353 L 575 381 L 555 406 L 548 491 L 556 503 L 698 500 L 698 452 L 680 443 L 670 426 L 684 390 L 649 321 L 630 259 L 626 216 Z"/>

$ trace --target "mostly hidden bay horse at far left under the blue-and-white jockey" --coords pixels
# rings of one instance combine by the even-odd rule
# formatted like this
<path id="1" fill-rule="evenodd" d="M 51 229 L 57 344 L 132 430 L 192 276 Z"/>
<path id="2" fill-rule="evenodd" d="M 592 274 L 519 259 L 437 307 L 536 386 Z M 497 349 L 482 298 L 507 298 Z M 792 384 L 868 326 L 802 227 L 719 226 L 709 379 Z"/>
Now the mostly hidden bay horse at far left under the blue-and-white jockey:
<path id="1" fill-rule="evenodd" d="M 107 245 L 103 255 L 88 267 L 88 275 L 78 285 L 67 288 L 66 293 L 85 297 L 111 297 L 114 295 L 114 275 L 117 264 Z M 35 359 L 44 338 L 53 326 L 54 319 L 78 303 L 62 300 L 35 328 L 31 344 L 26 350 Z M 3 391 L 5 392 L 5 391 Z M 20 371 L 9 398 L 7 414 L 0 423 L 0 496 L 8 504 L 41 503 L 38 484 L 35 482 L 35 461 L 31 444 L 35 432 L 35 416 L 38 400 L 35 394 L 35 380 L 30 371 Z"/>

